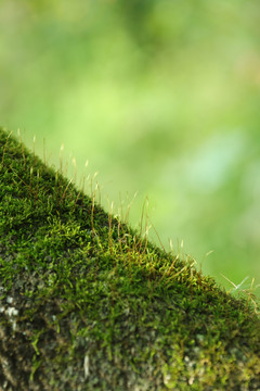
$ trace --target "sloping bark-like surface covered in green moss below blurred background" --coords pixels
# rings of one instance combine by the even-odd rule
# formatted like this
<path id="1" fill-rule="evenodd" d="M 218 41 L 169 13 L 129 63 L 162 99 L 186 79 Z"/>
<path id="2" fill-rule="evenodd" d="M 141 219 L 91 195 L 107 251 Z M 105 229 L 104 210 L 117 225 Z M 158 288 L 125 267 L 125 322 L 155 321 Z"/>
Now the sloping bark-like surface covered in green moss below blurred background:
<path id="1" fill-rule="evenodd" d="M 0 389 L 260 390 L 260 319 L 0 130 Z"/>

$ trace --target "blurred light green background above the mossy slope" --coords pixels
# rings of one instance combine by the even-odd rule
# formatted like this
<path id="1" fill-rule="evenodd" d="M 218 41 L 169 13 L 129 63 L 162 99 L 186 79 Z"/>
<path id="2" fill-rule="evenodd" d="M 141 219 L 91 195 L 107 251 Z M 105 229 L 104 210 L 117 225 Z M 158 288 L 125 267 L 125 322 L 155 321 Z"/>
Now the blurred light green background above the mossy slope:
<path id="1" fill-rule="evenodd" d="M 106 210 L 138 191 L 134 227 L 147 197 L 165 248 L 220 285 L 259 283 L 259 17 L 255 0 L 1 0 L 0 124 L 68 176 L 75 157 L 78 182 L 99 172 Z"/>

